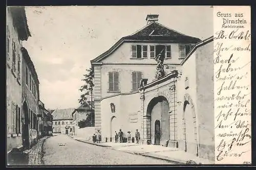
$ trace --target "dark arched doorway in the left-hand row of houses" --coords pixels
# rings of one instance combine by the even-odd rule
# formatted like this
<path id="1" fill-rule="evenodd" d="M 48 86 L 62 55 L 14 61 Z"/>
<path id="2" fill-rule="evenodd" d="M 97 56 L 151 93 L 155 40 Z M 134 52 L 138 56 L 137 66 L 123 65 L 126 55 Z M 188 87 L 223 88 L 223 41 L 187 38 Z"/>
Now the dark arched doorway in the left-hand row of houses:
<path id="1" fill-rule="evenodd" d="M 23 133 L 22 133 L 22 139 L 23 139 L 23 146 L 25 149 L 29 149 L 29 109 L 28 104 L 25 101 L 23 103 Z"/>

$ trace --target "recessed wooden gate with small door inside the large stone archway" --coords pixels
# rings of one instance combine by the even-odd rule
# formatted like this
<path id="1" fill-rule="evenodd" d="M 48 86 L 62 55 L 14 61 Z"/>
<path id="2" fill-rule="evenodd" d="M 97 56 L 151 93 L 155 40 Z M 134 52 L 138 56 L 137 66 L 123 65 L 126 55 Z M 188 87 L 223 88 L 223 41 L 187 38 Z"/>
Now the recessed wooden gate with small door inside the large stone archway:
<path id="1" fill-rule="evenodd" d="M 151 117 L 151 142 L 166 145 L 169 140 L 169 103 L 163 96 L 151 100 L 147 107 L 147 115 Z"/>

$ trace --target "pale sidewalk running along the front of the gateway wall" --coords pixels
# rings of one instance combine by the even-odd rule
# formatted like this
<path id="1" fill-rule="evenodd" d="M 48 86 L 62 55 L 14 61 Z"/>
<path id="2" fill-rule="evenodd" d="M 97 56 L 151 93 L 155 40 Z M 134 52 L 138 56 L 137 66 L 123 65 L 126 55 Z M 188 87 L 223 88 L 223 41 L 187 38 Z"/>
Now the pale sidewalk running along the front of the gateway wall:
<path id="1" fill-rule="evenodd" d="M 161 159 L 161 160 L 173 162 L 175 164 L 186 164 L 188 160 L 193 160 L 196 162 L 196 164 L 214 164 L 215 163 L 214 161 L 203 159 L 193 154 L 189 154 L 185 151 L 178 150 L 177 148 L 162 147 L 160 145 L 153 145 L 153 144 L 140 145 L 136 143 L 114 143 L 114 142 L 93 143 L 91 141 L 88 141 L 82 138 L 74 138 L 74 139 L 77 141 L 98 145 L 100 147 L 110 147 L 113 150 Z"/>

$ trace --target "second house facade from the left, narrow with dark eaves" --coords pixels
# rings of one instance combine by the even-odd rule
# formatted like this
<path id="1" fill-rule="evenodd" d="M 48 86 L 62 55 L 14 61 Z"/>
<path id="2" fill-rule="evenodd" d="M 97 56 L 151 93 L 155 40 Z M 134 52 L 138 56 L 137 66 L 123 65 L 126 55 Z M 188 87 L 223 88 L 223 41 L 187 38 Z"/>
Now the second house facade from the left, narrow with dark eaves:
<path id="1" fill-rule="evenodd" d="M 37 142 L 38 138 L 38 118 L 39 113 L 39 80 L 34 64 L 25 47 L 22 50 L 22 112 L 23 124 L 23 142 L 25 148 L 31 148 Z"/>

